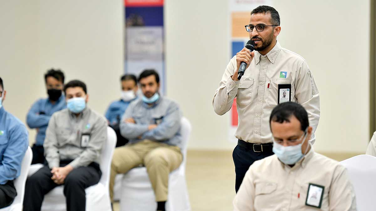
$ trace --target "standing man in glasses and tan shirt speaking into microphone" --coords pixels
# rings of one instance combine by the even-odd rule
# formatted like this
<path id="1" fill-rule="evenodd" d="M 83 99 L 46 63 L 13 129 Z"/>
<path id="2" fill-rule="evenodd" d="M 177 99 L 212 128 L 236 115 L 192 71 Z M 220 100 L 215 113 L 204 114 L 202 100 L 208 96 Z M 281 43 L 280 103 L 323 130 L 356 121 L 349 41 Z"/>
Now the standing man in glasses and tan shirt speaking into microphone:
<path id="1" fill-rule="evenodd" d="M 233 151 L 236 192 L 250 165 L 273 154 L 269 116 L 276 105 L 288 101 L 301 104 L 308 112 L 312 134 L 320 119 L 318 89 L 305 59 L 277 42 L 281 30 L 278 12 L 259 6 L 251 12 L 245 28 L 255 42 L 255 51 L 243 48 L 230 60 L 213 99 L 215 113 L 223 115 L 237 98 L 238 145 Z M 238 74 L 242 62 L 246 63 L 243 75 Z M 310 141 L 314 143 L 314 135 Z"/>

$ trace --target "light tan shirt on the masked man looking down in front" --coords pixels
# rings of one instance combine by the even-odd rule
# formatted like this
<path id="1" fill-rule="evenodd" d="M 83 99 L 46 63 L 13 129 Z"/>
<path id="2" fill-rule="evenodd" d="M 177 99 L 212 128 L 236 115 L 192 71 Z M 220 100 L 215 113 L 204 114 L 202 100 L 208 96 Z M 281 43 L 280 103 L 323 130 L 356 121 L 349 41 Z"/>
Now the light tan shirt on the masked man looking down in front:
<path id="1" fill-rule="evenodd" d="M 324 186 L 321 209 L 306 205 L 309 183 Z M 255 161 L 233 205 L 235 211 L 356 211 L 346 168 L 313 148 L 292 168 L 276 155 Z"/>

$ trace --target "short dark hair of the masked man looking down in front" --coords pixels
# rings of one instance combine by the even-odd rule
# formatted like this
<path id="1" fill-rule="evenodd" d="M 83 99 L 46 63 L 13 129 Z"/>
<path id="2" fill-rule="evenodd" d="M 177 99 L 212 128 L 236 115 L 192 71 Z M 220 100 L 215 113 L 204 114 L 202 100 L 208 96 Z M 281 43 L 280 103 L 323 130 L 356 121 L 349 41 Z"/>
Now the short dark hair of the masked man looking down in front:
<path id="1" fill-rule="evenodd" d="M 291 116 L 295 116 L 300 122 L 300 129 L 305 131 L 309 126 L 308 114 L 302 105 L 296 102 L 284 102 L 277 105 L 270 114 L 270 120 L 273 122 L 290 122 Z"/>

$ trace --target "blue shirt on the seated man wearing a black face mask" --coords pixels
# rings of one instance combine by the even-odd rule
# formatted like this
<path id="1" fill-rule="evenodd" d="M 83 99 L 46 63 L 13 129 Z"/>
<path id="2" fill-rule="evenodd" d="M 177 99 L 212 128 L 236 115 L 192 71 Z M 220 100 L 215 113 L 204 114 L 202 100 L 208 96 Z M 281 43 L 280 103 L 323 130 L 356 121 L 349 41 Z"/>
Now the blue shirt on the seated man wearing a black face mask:
<path id="1" fill-rule="evenodd" d="M 55 104 L 52 104 L 49 98 L 38 99 L 30 108 L 26 116 L 26 123 L 29 128 L 39 128 L 35 137 L 35 144 L 42 146 L 48 122 L 53 113 L 67 108 L 65 96 L 61 95 Z M 44 113 L 44 114 L 40 114 Z"/>

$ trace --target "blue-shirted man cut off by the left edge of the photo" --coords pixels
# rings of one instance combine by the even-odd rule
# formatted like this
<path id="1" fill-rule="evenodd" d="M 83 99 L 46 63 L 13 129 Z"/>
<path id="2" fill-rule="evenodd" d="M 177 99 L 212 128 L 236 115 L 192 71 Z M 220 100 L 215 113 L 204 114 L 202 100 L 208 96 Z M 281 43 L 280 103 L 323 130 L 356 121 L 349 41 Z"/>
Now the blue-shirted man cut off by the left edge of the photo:
<path id="1" fill-rule="evenodd" d="M 20 175 L 21 162 L 29 146 L 25 125 L 2 106 L 5 95 L 0 78 L 0 208 L 11 205 L 17 196 L 13 180 Z"/>

